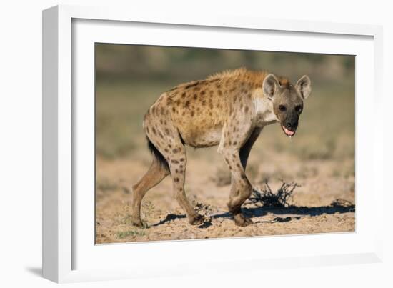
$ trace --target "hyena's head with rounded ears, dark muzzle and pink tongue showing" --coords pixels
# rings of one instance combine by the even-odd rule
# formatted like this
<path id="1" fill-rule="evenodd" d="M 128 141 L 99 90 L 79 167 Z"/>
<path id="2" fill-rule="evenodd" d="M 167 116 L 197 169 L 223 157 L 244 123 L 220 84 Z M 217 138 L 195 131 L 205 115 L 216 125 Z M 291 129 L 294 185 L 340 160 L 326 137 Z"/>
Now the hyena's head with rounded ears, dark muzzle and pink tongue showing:
<path id="1" fill-rule="evenodd" d="M 293 86 L 289 83 L 280 84 L 276 76 L 269 74 L 262 87 L 264 95 L 273 101 L 273 112 L 282 130 L 287 136 L 294 136 L 303 111 L 303 101 L 311 93 L 309 77 L 302 76 Z"/>

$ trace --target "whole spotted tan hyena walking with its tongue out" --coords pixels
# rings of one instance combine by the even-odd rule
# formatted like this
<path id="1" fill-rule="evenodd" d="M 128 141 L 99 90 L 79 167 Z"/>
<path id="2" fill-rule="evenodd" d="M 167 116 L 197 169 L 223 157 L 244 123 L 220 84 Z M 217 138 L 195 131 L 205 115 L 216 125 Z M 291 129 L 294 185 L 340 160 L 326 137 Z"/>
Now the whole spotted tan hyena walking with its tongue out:
<path id="1" fill-rule="evenodd" d="M 229 212 L 235 224 L 251 224 L 240 207 L 252 193 L 244 172 L 252 145 L 264 126 L 276 122 L 284 134 L 294 136 L 303 100 L 310 92 L 308 76 L 292 85 L 288 79 L 265 71 L 236 69 L 180 84 L 161 94 L 144 116 L 144 131 L 154 159 L 144 177 L 132 187 L 133 224 L 142 225 L 141 200 L 146 192 L 169 174 L 175 197 L 189 222 L 204 222 L 184 191 L 186 145 L 219 145 L 218 152 L 232 173 Z"/>

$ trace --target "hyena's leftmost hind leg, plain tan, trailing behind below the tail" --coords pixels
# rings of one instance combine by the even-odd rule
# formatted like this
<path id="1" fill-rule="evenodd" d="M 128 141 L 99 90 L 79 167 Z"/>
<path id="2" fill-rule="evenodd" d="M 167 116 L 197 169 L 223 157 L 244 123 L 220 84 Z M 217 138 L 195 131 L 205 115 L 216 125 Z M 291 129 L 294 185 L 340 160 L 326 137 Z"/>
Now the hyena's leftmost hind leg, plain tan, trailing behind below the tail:
<path id="1" fill-rule="evenodd" d="M 153 188 L 169 175 L 169 170 L 166 169 L 159 161 L 154 158 L 149 170 L 147 170 L 144 177 L 139 182 L 132 186 L 132 212 L 131 222 L 135 226 L 142 227 L 141 220 L 141 202 L 149 189 Z"/>

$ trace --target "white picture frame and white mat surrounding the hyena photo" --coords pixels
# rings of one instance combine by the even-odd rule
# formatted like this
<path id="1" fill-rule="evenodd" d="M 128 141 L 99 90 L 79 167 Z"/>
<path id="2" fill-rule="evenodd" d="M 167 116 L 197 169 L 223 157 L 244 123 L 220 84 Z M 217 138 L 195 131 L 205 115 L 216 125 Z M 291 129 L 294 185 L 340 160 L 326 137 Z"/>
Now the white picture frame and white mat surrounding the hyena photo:
<path id="1" fill-rule="evenodd" d="M 130 35 L 129 29 L 134 29 L 134 34 Z M 142 29 L 143 33 L 138 29 Z M 157 31 L 161 31 L 164 37 L 149 34 Z M 222 31 L 232 33 L 238 39 L 244 36 L 244 41 L 234 46 L 226 42 Z M 214 44 L 214 37 L 209 35 L 211 32 L 215 36 L 222 36 L 222 44 Z M 171 33 L 180 35 L 179 39 L 171 36 Z M 191 33 L 194 37 L 182 36 L 181 33 Z M 128 35 L 131 40 L 124 39 L 124 35 Z M 149 35 L 156 37 L 149 38 Z M 341 51 L 342 54 L 357 55 L 356 232 L 95 245 L 94 233 L 91 234 L 94 227 L 91 217 L 94 214 L 89 213 L 91 207 L 94 207 L 90 193 L 91 182 L 94 182 L 94 174 L 91 174 L 94 154 L 83 153 L 89 151 L 89 147 L 84 147 L 83 143 L 91 143 L 91 137 L 94 138 L 94 109 L 89 108 L 92 104 L 91 93 L 94 95 L 94 78 L 91 78 L 94 62 L 91 62 L 89 56 L 91 44 L 94 41 L 124 44 L 138 41 L 139 44 L 211 45 L 216 48 L 222 45 L 234 49 L 259 49 L 258 41 L 250 44 L 250 40 L 247 40 L 259 37 L 275 37 L 270 46 L 264 46 L 265 50 L 317 53 Z M 303 41 L 294 41 L 293 46 L 280 49 L 279 45 L 284 45 L 280 44 L 284 43 L 280 37 Z M 207 39 L 210 39 L 210 44 Z M 367 73 L 364 69 L 367 69 Z M 277 21 L 225 14 L 207 14 L 201 18 L 171 14 L 170 11 L 148 14 L 108 7 L 55 6 L 46 9 L 43 12 L 44 277 L 54 282 L 80 282 L 231 272 L 235 271 L 235 267 L 238 271 L 240 265 L 234 264 L 242 264 L 241 270 L 247 271 L 266 267 L 381 262 L 382 207 L 377 204 L 377 199 L 383 198 L 382 129 L 370 125 L 364 119 L 367 113 L 378 115 L 382 109 L 381 74 L 381 26 L 286 19 Z M 81 96 L 82 92 L 86 94 Z M 81 111 L 84 112 L 83 118 Z M 368 136 L 363 130 L 368 131 Z M 370 133 L 372 137 L 369 137 Z M 89 138 L 84 139 L 85 136 Z M 364 154 L 366 151 L 367 154 Z M 365 174 L 369 176 L 362 177 Z M 86 185 L 84 187 L 89 193 L 78 193 L 79 186 L 83 185 Z M 369 211 L 367 205 L 380 209 L 374 210 L 372 217 L 365 217 Z M 81 215 L 81 209 L 87 211 L 84 213 L 86 216 Z M 287 243 L 297 249 L 282 249 L 281 252 L 272 249 L 287 247 Z M 240 247 L 243 247 L 244 254 L 234 257 L 227 253 L 228 249 Z M 255 247 L 262 248 L 257 249 L 257 254 L 249 253 L 255 251 Z M 269 247 L 269 251 L 263 247 Z M 208 253 L 202 257 L 202 251 Z M 192 258 L 193 262 L 187 258 Z M 97 259 L 101 259 L 101 262 Z M 154 264 L 151 264 L 151 259 L 155 259 Z"/>

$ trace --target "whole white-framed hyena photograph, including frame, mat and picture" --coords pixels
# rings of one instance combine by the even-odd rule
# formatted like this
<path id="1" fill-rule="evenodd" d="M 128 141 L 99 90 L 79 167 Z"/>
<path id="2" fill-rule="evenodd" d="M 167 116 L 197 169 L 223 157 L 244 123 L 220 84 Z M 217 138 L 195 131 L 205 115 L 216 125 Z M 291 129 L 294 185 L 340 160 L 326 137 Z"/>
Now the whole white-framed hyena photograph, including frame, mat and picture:
<path id="1" fill-rule="evenodd" d="M 139 12 L 43 12 L 44 277 L 381 261 L 382 28 Z"/>

